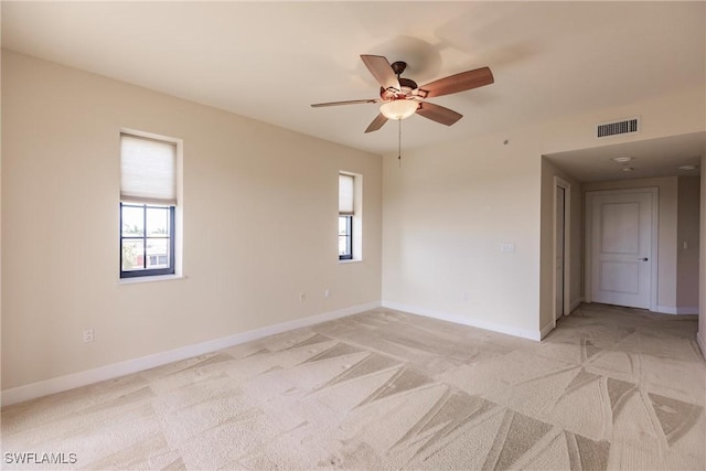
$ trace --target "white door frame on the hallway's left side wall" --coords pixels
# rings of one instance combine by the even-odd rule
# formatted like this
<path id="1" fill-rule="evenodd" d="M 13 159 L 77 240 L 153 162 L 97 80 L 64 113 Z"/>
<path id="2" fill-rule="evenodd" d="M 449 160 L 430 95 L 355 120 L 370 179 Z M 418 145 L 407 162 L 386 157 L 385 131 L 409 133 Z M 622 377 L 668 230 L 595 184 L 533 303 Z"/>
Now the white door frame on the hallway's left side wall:
<path id="1" fill-rule="evenodd" d="M 571 309 L 571 297 L 570 297 L 570 286 L 571 286 L 571 184 L 569 182 L 567 182 L 566 180 L 554 175 L 554 202 L 552 203 L 552 206 L 554 207 L 554 211 L 552 212 L 552 227 L 553 227 L 553 232 L 554 232 L 554 237 L 553 237 L 553 242 L 554 242 L 554 247 L 552 253 L 554 254 L 554 258 L 553 258 L 553 264 L 556 264 L 556 256 L 557 254 L 557 249 L 558 249 L 558 244 L 557 244 L 557 239 L 556 239 L 556 210 L 557 210 L 557 204 L 556 204 L 556 199 L 558 195 L 558 191 L 557 189 L 561 188 L 564 189 L 564 315 L 568 315 L 570 314 L 570 309 Z M 553 265 L 553 270 L 552 270 L 552 280 L 553 286 L 552 286 L 552 324 L 554 328 L 556 328 L 556 266 Z"/>

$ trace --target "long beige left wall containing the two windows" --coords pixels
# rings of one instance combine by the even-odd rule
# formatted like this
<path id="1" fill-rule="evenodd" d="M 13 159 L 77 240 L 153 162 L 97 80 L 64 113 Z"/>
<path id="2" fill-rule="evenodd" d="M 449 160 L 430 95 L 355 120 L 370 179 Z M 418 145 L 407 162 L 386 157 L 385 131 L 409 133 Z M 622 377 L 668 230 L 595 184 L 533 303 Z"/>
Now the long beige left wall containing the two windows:
<path id="1" fill-rule="evenodd" d="M 120 128 L 183 139 L 184 279 L 118 282 Z M 2 137 L 3 389 L 381 300 L 378 156 L 11 52 Z M 338 261 L 339 170 L 362 263 Z"/>

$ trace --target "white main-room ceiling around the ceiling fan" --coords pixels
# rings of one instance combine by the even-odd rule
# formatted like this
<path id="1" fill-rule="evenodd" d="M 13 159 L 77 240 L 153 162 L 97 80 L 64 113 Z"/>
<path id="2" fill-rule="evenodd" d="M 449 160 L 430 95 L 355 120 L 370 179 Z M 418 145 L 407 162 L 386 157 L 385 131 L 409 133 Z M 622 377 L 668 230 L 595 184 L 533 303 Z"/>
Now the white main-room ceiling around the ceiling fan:
<path id="1" fill-rule="evenodd" d="M 375 105 L 309 106 L 377 97 L 360 54 L 407 62 L 418 84 L 493 71 L 431 99 L 464 115 L 452 127 L 405 120 L 409 149 L 703 86 L 705 17 L 674 1 L 6 0 L 2 46 L 384 154 L 397 126 L 364 135 Z"/>

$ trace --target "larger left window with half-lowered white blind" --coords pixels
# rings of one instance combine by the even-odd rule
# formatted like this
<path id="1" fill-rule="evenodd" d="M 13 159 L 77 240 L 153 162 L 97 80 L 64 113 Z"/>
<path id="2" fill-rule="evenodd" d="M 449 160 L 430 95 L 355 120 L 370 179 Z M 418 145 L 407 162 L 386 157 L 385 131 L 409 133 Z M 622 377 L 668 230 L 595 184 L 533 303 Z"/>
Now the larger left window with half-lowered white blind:
<path id="1" fill-rule="evenodd" d="M 120 135 L 120 278 L 173 275 L 176 144 Z"/>

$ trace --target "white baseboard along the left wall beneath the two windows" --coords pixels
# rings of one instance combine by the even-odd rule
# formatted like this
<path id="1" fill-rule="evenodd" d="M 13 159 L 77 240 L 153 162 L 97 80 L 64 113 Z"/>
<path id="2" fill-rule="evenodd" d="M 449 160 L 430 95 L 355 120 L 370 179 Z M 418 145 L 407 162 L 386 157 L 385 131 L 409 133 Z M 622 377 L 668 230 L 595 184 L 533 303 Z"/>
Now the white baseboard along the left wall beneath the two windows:
<path id="1" fill-rule="evenodd" d="M 370 311 L 371 309 L 376 309 L 381 306 L 382 303 L 379 301 L 353 306 L 345 309 L 339 309 L 336 311 L 324 312 L 303 319 L 282 322 L 280 324 L 268 325 L 261 329 L 255 329 L 221 339 L 208 340 L 206 342 L 169 350 L 167 352 L 154 353 L 152 355 L 141 356 L 139 358 L 127 360 L 125 362 L 113 363 L 93 370 L 86 370 L 83 372 L 72 373 L 51 379 L 31 383 L 24 386 L 4 389 L 2 390 L 0 403 L 4 407 L 11 404 L 34 399 L 36 397 L 62 393 L 64 390 L 86 386 L 88 384 L 125 376 L 127 374 L 141 372 L 143 370 L 153 368 L 156 366 L 165 365 L 168 363 L 176 362 L 180 360 L 203 355 L 204 353 L 211 353 L 217 350 L 227 349 L 240 343 L 263 339 L 268 335 L 275 335 L 290 330 L 306 328 L 321 322 Z"/>

